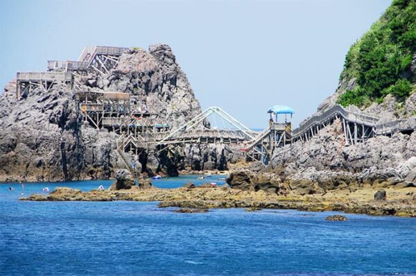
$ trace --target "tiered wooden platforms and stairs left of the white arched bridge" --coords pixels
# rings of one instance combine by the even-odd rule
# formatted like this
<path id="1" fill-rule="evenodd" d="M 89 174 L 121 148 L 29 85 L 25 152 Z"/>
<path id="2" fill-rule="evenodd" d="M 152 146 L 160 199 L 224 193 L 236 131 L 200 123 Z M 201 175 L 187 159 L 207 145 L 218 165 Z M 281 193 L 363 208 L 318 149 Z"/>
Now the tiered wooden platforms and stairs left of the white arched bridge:
<path id="1" fill-rule="evenodd" d="M 139 155 L 154 152 L 156 139 L 168 133 L 166 119 L 144 105 L 132 104 L 128 93 L 76 91 L 76 98 L 85 123 L 120 135 L 117 150 L 130 170 Z M 135 156 L 134 161 L 125 153 Z"/>

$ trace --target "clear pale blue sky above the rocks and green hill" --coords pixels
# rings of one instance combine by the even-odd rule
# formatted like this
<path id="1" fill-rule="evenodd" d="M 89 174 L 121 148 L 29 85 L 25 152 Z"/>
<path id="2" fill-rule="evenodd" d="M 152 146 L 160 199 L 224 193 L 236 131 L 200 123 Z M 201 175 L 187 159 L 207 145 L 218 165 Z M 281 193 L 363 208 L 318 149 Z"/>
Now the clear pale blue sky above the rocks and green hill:
<path id="1" fill-rule="evenodd" d="M 345 54 L 391 0 L 0 0 L 0 85 L 85 45 L 169 44 L 202 108 L 252 128 L 271 105 L 294 123 L 333 94 Z"/>

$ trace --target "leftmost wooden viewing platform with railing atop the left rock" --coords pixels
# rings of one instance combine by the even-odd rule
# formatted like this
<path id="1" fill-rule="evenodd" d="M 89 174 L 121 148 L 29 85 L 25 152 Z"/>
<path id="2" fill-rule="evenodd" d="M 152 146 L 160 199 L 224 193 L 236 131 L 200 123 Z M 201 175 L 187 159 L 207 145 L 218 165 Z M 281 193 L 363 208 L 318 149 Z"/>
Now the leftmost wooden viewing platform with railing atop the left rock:
<path id="1" fill-rule="evenodd" d="M 42 88 L 48 92 L 53 85 L 62 84 L 73 87 L 73 76 L 68 72 L 17 72 L 16 96 L 25 97 L 32 89 Z"/>

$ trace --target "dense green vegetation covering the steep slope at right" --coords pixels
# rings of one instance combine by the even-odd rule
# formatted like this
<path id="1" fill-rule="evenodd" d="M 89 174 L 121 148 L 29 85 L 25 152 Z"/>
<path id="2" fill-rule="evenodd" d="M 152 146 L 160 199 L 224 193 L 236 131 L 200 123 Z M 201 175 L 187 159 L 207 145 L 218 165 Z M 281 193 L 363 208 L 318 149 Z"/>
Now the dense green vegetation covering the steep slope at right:
<path id="1" fill-rule="evenodd" d="M 381 103 L 392 94 L 404 101 L 415 89 L 410 70 L 416 52 L 416 0 L 395 0 L 365 33 L 351 46 L 340 78 L 356 85 L 338 98 L 347 106 Z"/>

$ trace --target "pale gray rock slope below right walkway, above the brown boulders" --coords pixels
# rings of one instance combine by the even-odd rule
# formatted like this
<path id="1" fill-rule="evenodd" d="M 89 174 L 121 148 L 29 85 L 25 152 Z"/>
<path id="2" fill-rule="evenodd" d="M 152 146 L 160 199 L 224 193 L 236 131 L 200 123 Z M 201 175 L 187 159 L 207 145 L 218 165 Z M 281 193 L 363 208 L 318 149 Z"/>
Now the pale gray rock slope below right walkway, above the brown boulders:
<path id="1" fill-rule="evenodd" d="M 379 136 L 365 143 L 347 146 L 340 121 L 336 121 L 306 143 L 296 142 L 275 150 L 271 166 L 273 169 L 284 167 L 288 174 L 309 167 L 317 171 L 352 173 L 393 168 L 398 171 L 397 175 L 406 178 L 406 174 L 415 166 L 415 156 L 416 133 L 396 133 L 391 138 Z"/>

